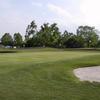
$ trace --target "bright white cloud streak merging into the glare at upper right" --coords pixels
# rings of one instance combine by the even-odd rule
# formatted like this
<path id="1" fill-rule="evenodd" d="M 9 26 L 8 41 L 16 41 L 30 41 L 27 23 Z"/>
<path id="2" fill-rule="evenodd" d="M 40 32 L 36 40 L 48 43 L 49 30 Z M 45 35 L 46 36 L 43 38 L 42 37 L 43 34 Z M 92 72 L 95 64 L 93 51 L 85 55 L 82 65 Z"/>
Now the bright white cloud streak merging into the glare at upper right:
<path id="1" fill-rule="evenodd" d="M 48 4 L 47 7 L 56 16 L 54 20 L 63 26 L 90 25 L 100 28 L 100 0 L 81 0 L 78 13 L 69 12 L 66 8 L 54 4 Z M 74 9 L 74 8 L 72 8 Z M 76 11 L 77 12 L 77 11 Z"/>

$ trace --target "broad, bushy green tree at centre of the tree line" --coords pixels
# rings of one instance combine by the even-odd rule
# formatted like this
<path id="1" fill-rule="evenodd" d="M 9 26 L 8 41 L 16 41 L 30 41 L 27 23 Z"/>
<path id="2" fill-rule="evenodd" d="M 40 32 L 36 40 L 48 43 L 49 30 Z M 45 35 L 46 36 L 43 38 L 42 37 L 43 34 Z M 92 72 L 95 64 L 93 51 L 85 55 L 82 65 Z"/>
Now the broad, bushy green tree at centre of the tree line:
<path id="1" fill-rule="evenodd" d="M 60 38 L 59 28 L 57 27 L 56 23 L 49 25 L 49 23 L 44 24 L 41 26 L 40 31 L 38 32 L 37 36 L 41 40 L 41 44 L 43 46 L 58 46 L 58 40 Z"/>

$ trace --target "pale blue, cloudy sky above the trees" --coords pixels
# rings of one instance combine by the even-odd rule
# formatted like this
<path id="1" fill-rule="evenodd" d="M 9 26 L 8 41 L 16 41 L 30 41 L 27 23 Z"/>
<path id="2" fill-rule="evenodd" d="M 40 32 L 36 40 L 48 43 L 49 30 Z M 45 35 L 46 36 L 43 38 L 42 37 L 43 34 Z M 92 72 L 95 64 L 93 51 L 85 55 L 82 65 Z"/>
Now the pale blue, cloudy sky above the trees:
<path id="1" fill-rule="evenodd" d="M 61 31 L 76 31 L 80 25 L 100 29 L 100 0 L 0 0 L 0 36 L 20 32 L 35 20 L 58 24 Z"/>

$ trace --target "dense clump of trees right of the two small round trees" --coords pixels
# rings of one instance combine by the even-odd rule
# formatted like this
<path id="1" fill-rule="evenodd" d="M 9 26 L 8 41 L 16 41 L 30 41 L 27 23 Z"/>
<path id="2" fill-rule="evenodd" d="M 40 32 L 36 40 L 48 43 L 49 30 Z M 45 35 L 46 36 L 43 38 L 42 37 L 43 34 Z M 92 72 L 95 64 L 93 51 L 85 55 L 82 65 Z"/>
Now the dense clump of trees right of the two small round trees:
<path id="1" fill-rule="evenodd" d="M 83 48 L 97 47 L 99 36 L 94 27 L 79 26 L 77 35 L 64 31 L 59 31 L 56 23 L 44 23 L 40 30 L 36 32 L 36 24 L 33 21 L 26 30 L 27 47 L 67 47 L 67 48 Z M 31 35 L 31 37 L 30 37 Z M 30 38 L 29 38 L 30 37 Z"/>

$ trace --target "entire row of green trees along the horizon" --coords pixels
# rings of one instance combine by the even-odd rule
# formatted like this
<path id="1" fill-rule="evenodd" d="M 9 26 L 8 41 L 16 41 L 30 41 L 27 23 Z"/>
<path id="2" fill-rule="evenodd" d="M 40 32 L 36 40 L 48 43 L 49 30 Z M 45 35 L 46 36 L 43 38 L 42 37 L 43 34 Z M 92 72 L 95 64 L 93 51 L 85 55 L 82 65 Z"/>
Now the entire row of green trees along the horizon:
<path id="1" fill-rule="evenodd" d="M 79 26 L 76 33 L 67 30 L 61 33 L 56 23 L 44 23 L 38 30 L 35 21 L 32 21 L 26 28 L 24 40 L 20 33 L 15 33 L 13 37 L 5 33 L 1 37 L 1 44 L 17 48 L 94 48 L 100 47 L 100 38 L 95 27 Z"/>

